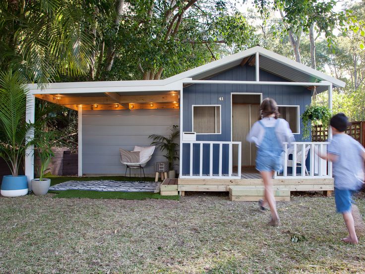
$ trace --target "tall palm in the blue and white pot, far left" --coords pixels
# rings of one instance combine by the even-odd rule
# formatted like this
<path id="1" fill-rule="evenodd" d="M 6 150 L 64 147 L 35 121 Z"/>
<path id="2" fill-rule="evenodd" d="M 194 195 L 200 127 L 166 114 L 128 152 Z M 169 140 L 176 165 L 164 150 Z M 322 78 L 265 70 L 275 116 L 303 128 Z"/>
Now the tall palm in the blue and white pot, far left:
<path id="1" fill-rule="evenodd" d="M 28 193 L 27 177 L 19 175 L 25 151 L 31 145 L 26 141 L 33 125 L 25 121 L 27 89 L 19 72 L 0 72 L 0 156 L 8 164 L 11 175 L 1 183 L 1 195 L 16 197 Z"/>

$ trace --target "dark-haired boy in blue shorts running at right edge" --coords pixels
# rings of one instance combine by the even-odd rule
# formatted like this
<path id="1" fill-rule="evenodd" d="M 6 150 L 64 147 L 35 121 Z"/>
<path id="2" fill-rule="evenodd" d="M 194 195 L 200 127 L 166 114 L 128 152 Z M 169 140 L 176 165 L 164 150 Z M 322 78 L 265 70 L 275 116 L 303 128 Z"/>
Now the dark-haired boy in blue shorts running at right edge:
<path id="1" fill-rule="evenodd" d="M 354 218 L 361 221 L 361 217 L 359 219 L 359 216 L 355 216 L 358 211 L 357 207 L 352 205 L 352 195 L 360 190 L 364 183 L 365 149 L 358 141 L 345 134 L 348 123 L 345 114 L 334 115 L 330 121 L 333 138 L 328 145 L 327 155 L 317 153 L 319 157 L 333 162 L 336 209 L 342 213 L 349 231 L 349 237 L 343 238 L 342 241 L 357 244 Z"/>

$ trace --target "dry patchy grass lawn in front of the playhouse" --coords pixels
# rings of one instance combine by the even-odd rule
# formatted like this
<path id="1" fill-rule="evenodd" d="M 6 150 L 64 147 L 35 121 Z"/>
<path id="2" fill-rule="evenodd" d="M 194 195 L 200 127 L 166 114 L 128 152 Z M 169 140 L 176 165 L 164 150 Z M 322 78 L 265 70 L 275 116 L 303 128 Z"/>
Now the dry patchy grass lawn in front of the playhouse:
<path id="1" fill-rule="evenodd" d="M 364 273 L 365 237 L 342 243 L 333 198 L 269 212 L 227 194 L 180 201 L 0 197 L 0 273 Z M 365 213 L 365 196 L 356 199 Z M 298 234 L 295 234 L 298 233 Z M 292 242 L 293 235 L 304 241 Z M 302 238 L 302 237 L 300 237 Z"/>

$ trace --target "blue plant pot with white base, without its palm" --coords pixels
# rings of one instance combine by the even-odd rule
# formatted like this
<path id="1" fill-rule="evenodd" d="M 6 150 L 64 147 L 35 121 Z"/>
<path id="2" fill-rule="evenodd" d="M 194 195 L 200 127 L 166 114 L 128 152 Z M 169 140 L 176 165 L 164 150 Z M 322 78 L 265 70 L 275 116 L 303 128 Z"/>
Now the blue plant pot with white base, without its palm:
<path id="1" fill-rule="evenodd" d="M 5 175 L 2 177 L 1 195 L 4 197 L 23 196 L 28 193 L 28 180 L 25 175 Z"/>

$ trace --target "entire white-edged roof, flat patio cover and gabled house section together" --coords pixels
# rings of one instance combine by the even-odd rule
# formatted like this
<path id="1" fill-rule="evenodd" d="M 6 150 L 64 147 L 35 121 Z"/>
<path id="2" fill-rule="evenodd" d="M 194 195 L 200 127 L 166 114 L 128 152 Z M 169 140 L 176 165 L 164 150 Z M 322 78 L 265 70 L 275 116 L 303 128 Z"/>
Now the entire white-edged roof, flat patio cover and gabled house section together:
<path id="1" fill-rule="evenodd" d="M 176 74 L 163 80 L 132 80 L 132 81 L 91 81 L 51 83 L 41 91 L 37 84 L 29 84 L 32 93 L 97 93 L 97 92 L 138 92 L 162 91 L 180 89 L 179 82 L 184 78 L 193 80 L 207 79 L 217 73 L 239 66 L 243 58 L 259 54 L 259 67 L 272 74 L 278 75 L 292 82 L 320 82 L 328 81 L 333 87 L 344 87 L 345 82 L 331 77 L 323 72 L 311 69 L 289 58 L 268 51 L 259 46 L 247 49 L 220 60 L 205 64 L 195 69 Z M 317 87 L 317 91 L 327 89 Z"/>

